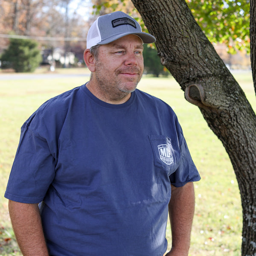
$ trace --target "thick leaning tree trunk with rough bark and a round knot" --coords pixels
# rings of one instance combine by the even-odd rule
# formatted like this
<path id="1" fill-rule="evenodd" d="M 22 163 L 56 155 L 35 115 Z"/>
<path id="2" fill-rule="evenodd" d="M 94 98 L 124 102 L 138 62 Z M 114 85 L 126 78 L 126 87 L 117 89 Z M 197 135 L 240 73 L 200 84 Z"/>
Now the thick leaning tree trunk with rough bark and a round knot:
<path id="1" fill-rule="evenodd" d="M 185 0 L 132 0 L 157 38 L 161 62 L 223 143 L 239 184 L 242 256 L 256 255 L 256 116 Z"/>

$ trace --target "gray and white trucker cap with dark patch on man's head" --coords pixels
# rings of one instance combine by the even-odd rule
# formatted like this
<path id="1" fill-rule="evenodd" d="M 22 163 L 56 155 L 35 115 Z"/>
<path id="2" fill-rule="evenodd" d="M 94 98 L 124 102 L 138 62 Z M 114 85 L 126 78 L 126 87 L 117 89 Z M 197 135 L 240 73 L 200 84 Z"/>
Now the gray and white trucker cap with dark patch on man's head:
<path id="1" fill-rule="evenodd" d="M 153 35 L 142 32 L 140 24 L 124 12 L 113 12 L 97 18 L 87 34 L 87 49 L 97 44 L 109 44 L 125 35 L 137 35 L 145 44 L 154 43 Z"/>

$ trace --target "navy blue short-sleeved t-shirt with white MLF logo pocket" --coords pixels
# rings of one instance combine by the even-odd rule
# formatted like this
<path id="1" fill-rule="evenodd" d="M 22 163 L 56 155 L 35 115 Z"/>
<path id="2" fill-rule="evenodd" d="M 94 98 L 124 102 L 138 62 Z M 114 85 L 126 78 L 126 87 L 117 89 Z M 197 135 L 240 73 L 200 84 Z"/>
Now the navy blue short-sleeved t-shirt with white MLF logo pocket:
<path id="1" fill-rule="evenodd" d="M 54 256 L 163 256 L 171 183 L 200 176 L 172 109 L 135 90 L 120 105 L 86 85 L 22 126 L 5 197 L 40 203 Z"/>

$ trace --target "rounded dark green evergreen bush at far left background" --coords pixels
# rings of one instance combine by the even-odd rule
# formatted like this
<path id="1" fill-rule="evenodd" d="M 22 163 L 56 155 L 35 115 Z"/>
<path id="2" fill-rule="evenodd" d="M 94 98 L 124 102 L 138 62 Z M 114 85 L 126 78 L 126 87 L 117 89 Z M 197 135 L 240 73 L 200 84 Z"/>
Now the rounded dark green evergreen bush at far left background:
<path id="1" fill-rule="evenodd" d="M 1 56 L 2 68 L 13 68 L 15 72 L 33 72 L 42 57 L 37 42 L 30 39 L 10 39 L 9 47 Z"/>

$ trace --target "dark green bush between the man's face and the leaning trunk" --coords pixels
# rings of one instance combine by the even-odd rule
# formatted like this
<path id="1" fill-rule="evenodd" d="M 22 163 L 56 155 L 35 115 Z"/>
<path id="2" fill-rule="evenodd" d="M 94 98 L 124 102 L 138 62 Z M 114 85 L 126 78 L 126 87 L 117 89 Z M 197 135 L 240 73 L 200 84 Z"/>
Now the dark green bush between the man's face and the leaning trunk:
<path id="1" fill-rule="evenodd" d="M 170 74 L 166 67 L 161 64 L 154 44 L 144 44 L 143 58 L 145 73 L 153 74 L 153 76 L 156 77 L 159 75 L 168 76 Z"/>

